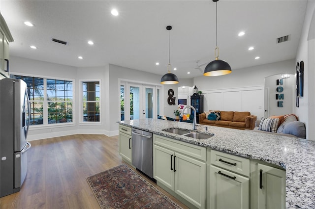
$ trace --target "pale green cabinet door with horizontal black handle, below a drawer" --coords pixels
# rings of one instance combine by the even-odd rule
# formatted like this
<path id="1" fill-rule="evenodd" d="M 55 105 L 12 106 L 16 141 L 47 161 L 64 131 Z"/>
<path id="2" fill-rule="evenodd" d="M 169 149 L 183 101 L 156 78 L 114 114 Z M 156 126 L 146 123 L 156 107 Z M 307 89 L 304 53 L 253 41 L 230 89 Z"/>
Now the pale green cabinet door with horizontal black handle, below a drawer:
<path id="1" fill-rule="evenodd" d="M 210 166 L 210 208 L 248 209 L 250 179 Z"/>

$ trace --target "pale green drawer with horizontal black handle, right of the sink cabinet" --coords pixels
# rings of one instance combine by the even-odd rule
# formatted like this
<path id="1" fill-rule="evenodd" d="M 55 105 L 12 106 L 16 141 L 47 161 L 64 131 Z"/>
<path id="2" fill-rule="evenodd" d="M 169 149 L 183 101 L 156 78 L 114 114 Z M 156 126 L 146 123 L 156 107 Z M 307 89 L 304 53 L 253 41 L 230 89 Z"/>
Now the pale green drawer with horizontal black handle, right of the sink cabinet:
<path id="1" fill-rule="evenodd" d="M 250 176 L 250 159 L 211 150 L 211 164 L 226 170 Z"/>

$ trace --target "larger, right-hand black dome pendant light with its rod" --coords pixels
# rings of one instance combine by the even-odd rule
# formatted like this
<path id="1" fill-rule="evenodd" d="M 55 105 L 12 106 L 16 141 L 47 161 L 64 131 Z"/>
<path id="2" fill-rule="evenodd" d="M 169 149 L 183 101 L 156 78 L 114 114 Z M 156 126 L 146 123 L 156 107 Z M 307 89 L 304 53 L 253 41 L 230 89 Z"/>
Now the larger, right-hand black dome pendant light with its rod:
<path id="1" fill-rule="evenodd" d="M 218 47 L 218 1 L 219 0 L 213 0 L 213 2 L 216 2 L 216 38 L 217 38 L 217 46 L 215 49 L 215 60 L 210 62 L 203 73 L 204 76 L 222 76 L 226 74 L 232 73 L 231 66 L 225 62 L 224 60 L 219 59 L 219 47 Z"/>

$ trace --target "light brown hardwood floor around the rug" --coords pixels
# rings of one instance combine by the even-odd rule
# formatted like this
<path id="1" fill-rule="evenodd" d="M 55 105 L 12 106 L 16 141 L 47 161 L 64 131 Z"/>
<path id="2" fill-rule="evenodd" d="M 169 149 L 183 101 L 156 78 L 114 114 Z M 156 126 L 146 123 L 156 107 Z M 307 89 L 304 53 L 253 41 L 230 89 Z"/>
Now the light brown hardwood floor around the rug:
<path id="1" fill-rule="evenodd" d="M 118 136 L 75 134 L 31 144 L 21 191 L 0 198 L 1 209 L 99 209 L 86 177 L 123 163 Z"/>

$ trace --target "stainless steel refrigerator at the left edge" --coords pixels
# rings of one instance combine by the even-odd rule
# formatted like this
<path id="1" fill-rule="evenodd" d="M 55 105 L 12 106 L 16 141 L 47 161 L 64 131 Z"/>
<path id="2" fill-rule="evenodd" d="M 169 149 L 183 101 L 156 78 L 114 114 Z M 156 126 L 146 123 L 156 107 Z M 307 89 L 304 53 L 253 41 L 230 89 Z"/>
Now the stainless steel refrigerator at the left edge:
<path id="1" fill-rule="evenodd" d="M 26 178 L 30 115 L 27 84 L 21 79 L 1 79 L 0 197 L 20 191 Z"/>

